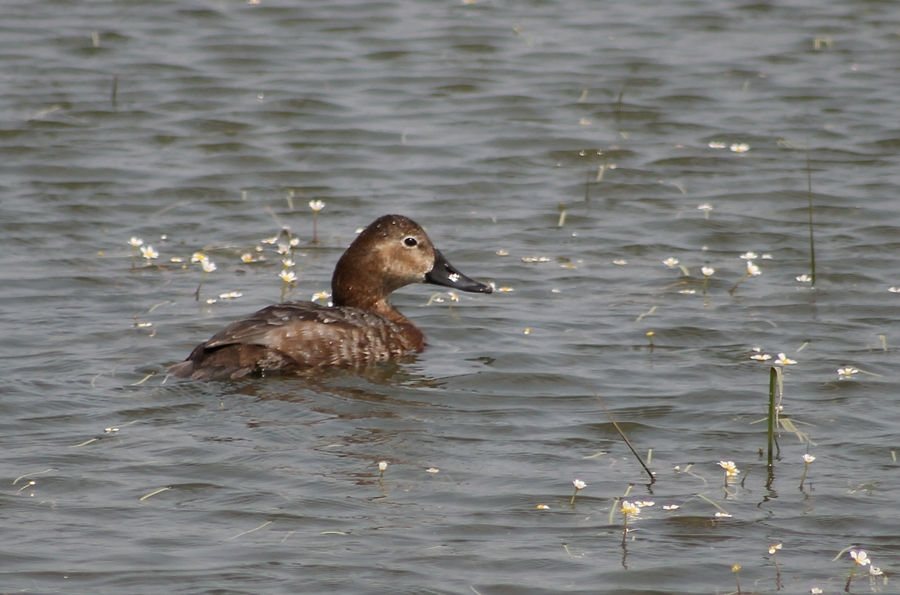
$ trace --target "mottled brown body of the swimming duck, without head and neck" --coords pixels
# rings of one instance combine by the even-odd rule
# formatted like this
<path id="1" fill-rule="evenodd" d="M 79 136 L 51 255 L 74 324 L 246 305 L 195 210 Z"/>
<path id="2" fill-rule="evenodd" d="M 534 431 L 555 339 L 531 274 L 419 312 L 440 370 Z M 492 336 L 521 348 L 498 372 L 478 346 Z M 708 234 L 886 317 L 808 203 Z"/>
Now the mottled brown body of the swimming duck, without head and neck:
<path id="1" fill-rule="evenodd" d="M 355 368 L 421 351 L 424 336 L 370 310 L 285 302 L 235 322 L 170 373 L 195 380 Z"/>

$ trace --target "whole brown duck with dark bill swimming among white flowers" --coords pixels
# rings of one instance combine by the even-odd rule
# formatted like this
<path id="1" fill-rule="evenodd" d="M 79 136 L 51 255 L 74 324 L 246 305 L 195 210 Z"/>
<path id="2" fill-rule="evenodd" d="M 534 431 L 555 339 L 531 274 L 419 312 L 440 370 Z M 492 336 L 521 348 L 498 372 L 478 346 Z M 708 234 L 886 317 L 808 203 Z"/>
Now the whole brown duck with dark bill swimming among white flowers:
<path id="1" fill-rule="evenodd" d="M 198 345 L 168 373 L 192 380 L 237 380 L 334 369 L 360 369 L 425 349 L 425 334 L 388 301 L 412 283 L 491 293 L 434 247 L 422 227 L 384 215 L 338 259 L 332 305 L 289 301 L 263 308 Z"/>

